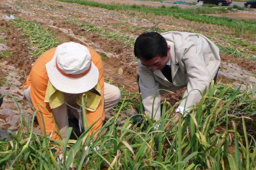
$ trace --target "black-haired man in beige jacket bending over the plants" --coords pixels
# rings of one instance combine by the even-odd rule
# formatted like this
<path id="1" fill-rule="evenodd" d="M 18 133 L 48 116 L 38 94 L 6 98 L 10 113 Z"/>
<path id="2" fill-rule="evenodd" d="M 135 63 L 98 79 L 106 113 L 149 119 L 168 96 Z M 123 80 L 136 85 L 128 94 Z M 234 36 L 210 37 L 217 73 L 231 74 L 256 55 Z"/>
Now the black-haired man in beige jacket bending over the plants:
<path id="1" fill-rule="evenodd" d="M 216 80 L 221 60 L 219 48 L 208 38 L 176 31 L 141 34 L 134 43 L 134 55 L 138 57 L 144 111 L 151 119 L 161 116 L 160 94 L 167 91 L 160 89 L 175 91 L 185 86 L 173 120 L 186 115 L 201 98 L 200 92 L 209 87 L 212 79 Z"/>

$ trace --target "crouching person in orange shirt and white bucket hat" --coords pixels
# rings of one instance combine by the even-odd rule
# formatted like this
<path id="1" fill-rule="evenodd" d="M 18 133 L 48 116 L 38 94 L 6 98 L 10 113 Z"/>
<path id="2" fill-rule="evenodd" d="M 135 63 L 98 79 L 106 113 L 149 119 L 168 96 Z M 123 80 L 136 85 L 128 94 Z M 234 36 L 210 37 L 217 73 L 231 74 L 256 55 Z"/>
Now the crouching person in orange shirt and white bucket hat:
<path id="1" fill-rule="evenodd" d="M 74 42 L 62 43 L 37 59 L 24 83 L 24 95 L 41 111 L 37 113 L 41 132 L 56 140 L 66 138 L 67 107 L 79 120 L 82 131 L 83 100 L 87 126 L 96 122 L 90 132 L 93 133 L 102 127 L 105 113 L 121 98 L 117 87 L 104 82 L 101 56 Z"/>

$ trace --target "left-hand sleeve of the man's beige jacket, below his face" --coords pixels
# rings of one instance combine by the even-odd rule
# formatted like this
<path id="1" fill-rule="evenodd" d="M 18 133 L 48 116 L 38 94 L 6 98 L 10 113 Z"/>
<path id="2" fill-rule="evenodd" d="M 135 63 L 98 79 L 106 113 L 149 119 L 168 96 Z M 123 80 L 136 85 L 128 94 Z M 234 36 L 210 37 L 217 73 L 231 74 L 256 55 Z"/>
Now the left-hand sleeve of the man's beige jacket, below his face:
<path id="1" fill-rule="evenodd" d="M 160 118 L 160 95 L 159 84 L 154 79 L 154 73 L 151 69 L 143 66 L 138 60 L 138 85 L 141 91 L 144 111 L 152 119 Z"/>

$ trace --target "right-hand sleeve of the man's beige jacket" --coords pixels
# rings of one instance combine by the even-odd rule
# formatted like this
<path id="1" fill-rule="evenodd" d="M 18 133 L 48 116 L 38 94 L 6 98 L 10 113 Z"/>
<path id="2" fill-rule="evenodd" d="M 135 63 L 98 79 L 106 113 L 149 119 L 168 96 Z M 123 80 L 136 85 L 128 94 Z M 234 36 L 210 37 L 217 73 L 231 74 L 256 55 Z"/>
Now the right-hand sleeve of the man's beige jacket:
<path id="1" fill-rule="evenodd" d="M 209 55 L 209 53 L 206 53 L 209 51 L 209 45 L 206 40 L 199 36 L 190 36 L 187 37 L 180 49 L 182 57 L 179 63 L 186 68 L 188 82 L 183 101 L 181 101 L 179 107 L 187 110 L 201 99 L 201 93 L 209 87 L 211 82 L 211 74 L 205 63 L 205 59 Z"/>

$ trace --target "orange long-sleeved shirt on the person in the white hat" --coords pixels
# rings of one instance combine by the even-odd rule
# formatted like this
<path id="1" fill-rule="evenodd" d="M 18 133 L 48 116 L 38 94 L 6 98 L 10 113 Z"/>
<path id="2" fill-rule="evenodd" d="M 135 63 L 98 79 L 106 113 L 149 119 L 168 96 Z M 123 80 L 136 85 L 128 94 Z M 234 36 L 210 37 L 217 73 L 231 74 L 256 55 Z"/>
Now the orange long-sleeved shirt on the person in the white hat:
<path id="1" fill-rule="evenodd" d="M 97 123 L 92 127 L 92 130 L 94 131 L 102 127 L 103 120 L 105 119 L 104 77 L 103 77 L 103 66 L 102 66 L 101 57 L 94 50 L 90 49 L 89 47 L 87 48 L 89 50 L 89 53 L 92 56 L 92 63 L 94 63 L 96 67 L 99 69 L 98 82 L 101 88 L 101 98 L 102 98 L 96 111 L 94 112 L 86 111 L 88 126 L 92 124 L 95 120 L 99 119 Z M 28 88 L 29 86 L 31 86 L 31 101 L 34 104 L 36 110 L 40 110 L 44 117 L 44 124 L 43 124 L 43 117 L 41 117 L 40 113 L 37 113 L 37 120 L 41 127 L 41 132 L 44 133 L 44 126 L 45 126 L 45 131 L 47 135 L 53 132 L 51 137 L 53 139 L 60 140 L 60 136 L 58 136 L 57 133 L 54 133 L 54 132 L 57 132 L 57 127 L 55 126 L 55 123 L 53 123 L 53 120 L 52 120 L 53 113 L 50 109 L 49 104 L 44 102 L 44 96 L 45 96 L 45 93 L 47 90 L 47 84 L 49 81 L 49 78 L 47 75 L 47 69 L 45 65 L 48 62 L 50 62 L 50 60 L 53 58 L 55 50 L 56 48 L 47 50 L 40 57 L 38 57 L 37 61 L 32 66 L 30 74 L 28 75 L 27 82 L 24 83 L 24 88 Z M 44 107 L 47 109 L 47 111 L 45 110 Z"/>

